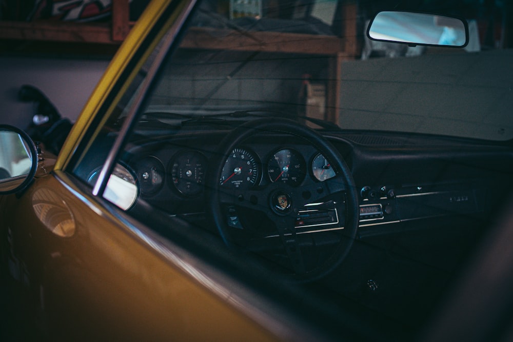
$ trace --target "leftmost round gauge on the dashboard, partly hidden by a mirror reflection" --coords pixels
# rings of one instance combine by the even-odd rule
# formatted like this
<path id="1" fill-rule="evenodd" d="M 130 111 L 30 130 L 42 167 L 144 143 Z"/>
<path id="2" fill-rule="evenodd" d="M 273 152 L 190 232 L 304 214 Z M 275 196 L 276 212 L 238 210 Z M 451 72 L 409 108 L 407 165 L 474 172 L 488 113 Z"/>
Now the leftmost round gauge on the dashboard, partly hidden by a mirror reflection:
<path id="1" fill-rule="evenodd" d="M 153 194 L 162 188 L 165 170 L 158 158 L 147 156 L 136 160 L 132 166 L 139 178 L 143 195 Z"/>

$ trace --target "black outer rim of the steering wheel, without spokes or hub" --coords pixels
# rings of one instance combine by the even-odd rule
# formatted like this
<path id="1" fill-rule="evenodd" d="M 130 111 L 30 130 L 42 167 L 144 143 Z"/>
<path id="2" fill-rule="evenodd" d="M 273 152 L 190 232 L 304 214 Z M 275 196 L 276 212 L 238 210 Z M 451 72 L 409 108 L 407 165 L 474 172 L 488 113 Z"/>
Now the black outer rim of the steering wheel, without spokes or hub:
<path id="1" fill-rule="evenodd" d="M 227 134 L 221 141 L 218 147 L 218 154 L 216 154 L 213 165 L 215 166 L 207 176 L 207 205 L 210 217 L 213 220 L 214 225 L 218 229 L 221 237 L 225 244 L 231 248 L 238 248 L 239 246 L 234 242 L 229 232 L 229 227 L 226 222 L 226 215 L 223 213 L 222 203 L 220 200 L 220 178 L 223 170 L 225 161 L 229 154 L 235 147 L 240 146 L 244 140 L 249 137 L 265 133 L 265 132 L 276 132 L 285 133 L 294 136 L 301 137 L 306 140 L 307 143 L 317 148 L 323 155 L 330 160 L 330 163 L 337 173 L 337 176 L 345 184 L 345 223 L 343 229 L 343 238 L 333 249 L 332 254 L 327 257 L 322 265 L 315 267 L 313 270 L 308 271 L 295 271 L 293 277 L 295 280 L 314 280 L 318 279 L 331 270 L 340 265 L 342 260 L 345 258 L 349 249 L 351 248 L 352 242 L 356 236 L 359 219 L 359 205 L 358 205 L 358 192 L 354 184 L 354 179 L 349 170 L 349 167 L 345 163 L 343 157 L 339 151 L 329 143 L 324 137 L 312 129 L 298 124 L 297 122 L 289 119 L 272 119 L 263 118 L 250 120 L 235 128 L 229 134 Z M 321 182 L 319 184 L 323 184 Z M 327 183 L 327 182 L 326 182 Z M 329 191 L 329 190 L 327 190 Z M 290 213 L 294 215 L 294 213 Z M 274 222 L 274 221 L 273 221 Z M 290 220 L 289 220 L 290 222 Z M 276 224 L 277 227 L 279 224 Z M 291 227 L 294 228 L 294 227 Z M 293 229 L 292 229 L 293 231 Z M 290 232 L 290 230 L 287 230 Z M 282 234 L 282 233 L 280 233 Z M 295 233 L 294 233 L 295 234 Z M 290 236 L 290 235 L 288 235 Z M 287 249 L 287 246 L 285 246 Z M 300 274 L 298 274 L 300 273 Z"/>

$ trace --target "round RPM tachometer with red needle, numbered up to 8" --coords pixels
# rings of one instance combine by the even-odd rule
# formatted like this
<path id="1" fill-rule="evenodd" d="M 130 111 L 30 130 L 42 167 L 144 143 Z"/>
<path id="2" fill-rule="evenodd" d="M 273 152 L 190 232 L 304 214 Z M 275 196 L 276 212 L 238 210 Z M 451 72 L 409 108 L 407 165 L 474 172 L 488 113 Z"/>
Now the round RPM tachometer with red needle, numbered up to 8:
<path id="1" fill-rule="evenodd" d="M 257 183 L 257 159 L 247 150 L 236 148 L 226 159 L 219 182 L 234 188 L 248 189 Z"/>

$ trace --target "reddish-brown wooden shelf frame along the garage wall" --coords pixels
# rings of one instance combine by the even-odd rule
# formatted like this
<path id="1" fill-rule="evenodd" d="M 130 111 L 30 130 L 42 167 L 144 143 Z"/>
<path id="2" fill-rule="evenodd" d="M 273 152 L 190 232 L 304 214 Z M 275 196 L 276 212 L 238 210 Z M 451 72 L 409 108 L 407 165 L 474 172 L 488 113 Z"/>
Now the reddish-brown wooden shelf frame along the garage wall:
<path id="1" fill-rule="evenodd" d="M 190 49 L 228 49 L 312 54 L 329 57 L 326 94 L 326 119 L 338 123 L 340 68 L 342 61 L 354 59 L 359 51 L 357 34 L 358 5 L 355 0 L 341 0 L 339 8 L 344 23 L 339 35 L 315 35 L 269 31 L 241 32 L 206 27 L 191 28 L 181 46 Z M 129 22 L 128 0 L 112 0 L 109 23 L 73 23 L 56 21 L 0 21 L 0 39 L 33 42 L 94 43 L 120 45 L 133 23 Z"/>

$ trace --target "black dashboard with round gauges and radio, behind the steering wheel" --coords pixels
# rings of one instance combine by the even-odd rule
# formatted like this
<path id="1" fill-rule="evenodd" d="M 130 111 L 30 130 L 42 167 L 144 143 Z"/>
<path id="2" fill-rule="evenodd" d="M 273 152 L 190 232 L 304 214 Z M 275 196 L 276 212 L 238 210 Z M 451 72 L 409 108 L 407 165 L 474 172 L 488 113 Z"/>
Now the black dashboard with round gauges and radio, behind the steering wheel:
<path id="1" fill-rule="evenodd" d="M 129 211 L 145 202 L 169 215 L 205 213 L 207 175 L 222 137 L 223 132 L 195 132 L 134 140 L 116 165 L 105 197 Z M 362 234 L 382 231 L 376 228 L 380 226 L 415 226 L 410 222 L 419 219 L 480 219 L 498 205 L 497 185 L 511 188 L 508 170 L 513 169 L 513 159 L 504 147 L 397 134 L 373 134 L 369 140 L 368 134 L 326 133 L 325 138 L 354 177 Z M 220 189 L 241 193 L 271 183 L 301 189 L 336 175 L 318 149 L 300 137 L 279 133 L 253 136 L 235 147 L 224 163 Z M 99 171 L 89 175 L 89 183 Z M 117 188 L 122 190 L 113 190 Z M 240 226 L 237 214 L 227 217 L 234 227 Z M 344 197 L 332 196 L 305 206 L 295 228 L 299 233 L 343 229 L 344 222 Z"/>

